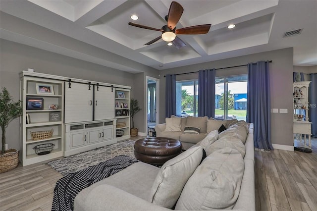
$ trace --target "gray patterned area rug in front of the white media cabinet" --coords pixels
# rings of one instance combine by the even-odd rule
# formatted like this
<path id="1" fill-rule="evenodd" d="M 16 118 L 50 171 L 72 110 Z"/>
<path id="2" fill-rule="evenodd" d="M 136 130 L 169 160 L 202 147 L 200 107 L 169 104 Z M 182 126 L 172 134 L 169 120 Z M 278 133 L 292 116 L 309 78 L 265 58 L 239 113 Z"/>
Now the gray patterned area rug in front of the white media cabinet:
<path id="1" fill-rule="evenodd" d="M 55 159 L 47 164 L 59 173 L 77 172 L 81 169 L 96 165 L 116 156 L 134 157 L 134 143 L 136 140 L 128 140 L 116 144 L 107 145 L 84 153 L 79 153 L 62 159 Z"/>

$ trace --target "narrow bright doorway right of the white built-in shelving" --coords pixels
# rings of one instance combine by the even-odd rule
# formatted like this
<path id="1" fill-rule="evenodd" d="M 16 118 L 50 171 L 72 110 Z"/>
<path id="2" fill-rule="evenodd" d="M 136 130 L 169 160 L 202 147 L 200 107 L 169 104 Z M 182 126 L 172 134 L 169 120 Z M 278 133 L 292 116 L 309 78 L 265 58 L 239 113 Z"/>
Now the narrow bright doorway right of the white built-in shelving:
<path id="1" fill-rule="evenodd" d="M 146 131 L 148 127 L 159 124 L 159 79 L 146 76 Z"/>

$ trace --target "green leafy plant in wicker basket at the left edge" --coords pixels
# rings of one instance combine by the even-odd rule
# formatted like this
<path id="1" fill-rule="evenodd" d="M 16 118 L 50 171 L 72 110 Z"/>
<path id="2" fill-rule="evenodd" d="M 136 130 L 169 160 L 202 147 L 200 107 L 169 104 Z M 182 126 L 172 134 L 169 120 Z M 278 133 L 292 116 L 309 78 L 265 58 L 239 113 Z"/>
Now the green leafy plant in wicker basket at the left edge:
<path id="1" fill-rule="evenodd" d="M 2 131 L 2 149 L 0 151 L 0 173 L 18 165 L 19 152 L 15 149 L 5 150 L 5 128 L 9 122 L 22 114 L 20 101 L 13 102 L 6 88 L 0 92 L 0 127 Z"/>

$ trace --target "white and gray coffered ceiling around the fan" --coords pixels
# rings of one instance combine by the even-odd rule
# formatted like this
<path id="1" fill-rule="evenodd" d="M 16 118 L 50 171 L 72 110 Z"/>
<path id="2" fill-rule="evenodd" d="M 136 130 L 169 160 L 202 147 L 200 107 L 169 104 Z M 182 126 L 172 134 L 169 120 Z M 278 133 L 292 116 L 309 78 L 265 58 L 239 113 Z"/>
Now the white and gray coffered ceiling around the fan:
<path id="1" fill-rule="evenodd" d="M 0 0 L 0 37 L 128 72 L 294 48 L 294 65 L 317 65 L 316 0 L 177 0 L 176 25 L 211 24 L 208 34 L 177 35 L 186 47 L 167 46 L 161 32 L 171 0 Z M 133 21 L 132 14 L 139 16 Z M 228 29 L 229 24 L 236 27 Z M 285 32 L 303 29 L 297 36 Z M 273 59 L 273 58 L 272 58 Z"/>

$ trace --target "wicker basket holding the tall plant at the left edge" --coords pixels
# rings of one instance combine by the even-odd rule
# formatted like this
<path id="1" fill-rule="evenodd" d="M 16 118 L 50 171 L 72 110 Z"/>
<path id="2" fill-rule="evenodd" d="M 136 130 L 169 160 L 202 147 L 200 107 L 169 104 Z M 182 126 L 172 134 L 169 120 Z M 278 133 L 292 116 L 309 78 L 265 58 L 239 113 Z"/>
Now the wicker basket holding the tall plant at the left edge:
<path id="1" fill-rule="evenodd" d="M 1 154 L 1 151 L 0 151 Z M 19 151 L 10 149 L 5 151 L 3 155 L 0 155 L 0 173 L 9 171 L 16 166 L 19 162 Z"/>

